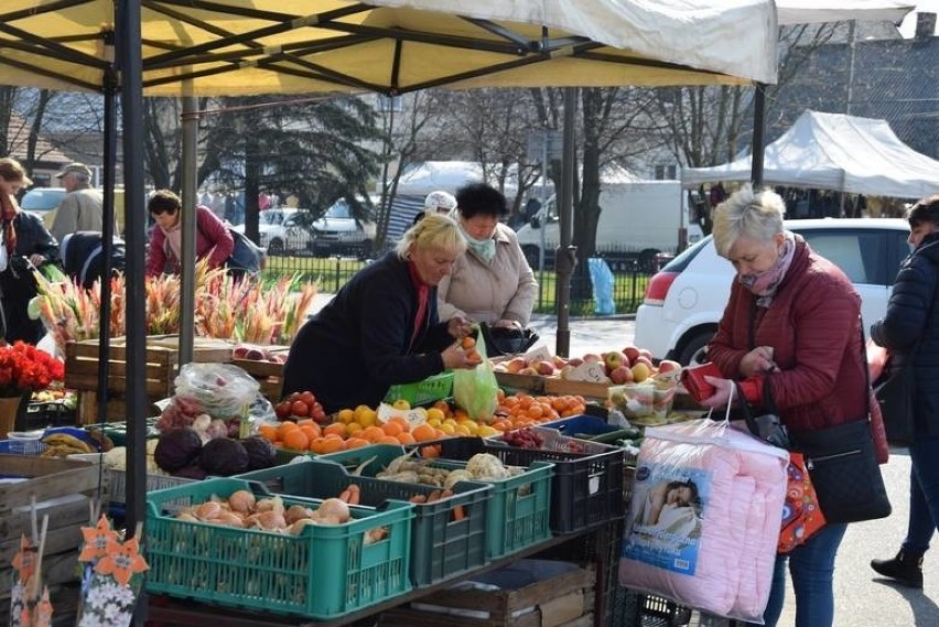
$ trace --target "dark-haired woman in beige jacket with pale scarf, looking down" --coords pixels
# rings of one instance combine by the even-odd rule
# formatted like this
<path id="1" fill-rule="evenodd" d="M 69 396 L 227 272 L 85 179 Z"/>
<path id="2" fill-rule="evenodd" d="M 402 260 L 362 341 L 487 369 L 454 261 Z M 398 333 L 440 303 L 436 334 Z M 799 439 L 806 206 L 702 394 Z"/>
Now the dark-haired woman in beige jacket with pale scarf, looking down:
<path id="1" fill-rule="evenodd" d="M 505 196 L 489 185 L 472 183 L 456 192 L 456 218 L 468 248 L 438 288 L 441 320 L 458 315 L 519 333 L 528 325 L 538 282 L 515 231 L 499 221 L 508 213 Z"/>

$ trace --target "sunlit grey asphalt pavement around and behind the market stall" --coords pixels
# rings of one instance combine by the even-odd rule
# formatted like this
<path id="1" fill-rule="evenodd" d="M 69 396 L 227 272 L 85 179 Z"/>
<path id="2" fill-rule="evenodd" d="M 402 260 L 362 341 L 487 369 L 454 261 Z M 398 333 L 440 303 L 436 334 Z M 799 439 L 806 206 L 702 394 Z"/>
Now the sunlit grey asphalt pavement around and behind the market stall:
<path id="1" fill-rule="evenodd" d="M 328 295 L 317 296 L 315 309 Z M 552 353 L 555 349 L 557 320 L 537 315 L 531 325 Z M 622 349 L 634 337 L 635 323 L 629 317 L 571 318 L 569 321 L 570 356 Z M 849 526 L 835 562 L 834 627 L 939 627 L 939 551 L 927 553 L 924 563 L 922 591 L 896 586 L 881 580 L 870 567 L 872 558 L 889 558 L 896 553 L 906 534 L 909 511 L 909 456 L 894 450 L 883 466 L 884 480 L 894 512 L 882 520 Z M 789 598 L 779 627 L 795 626 L 795 599 Z M 692 625 L 720 625 L 695 614 Z"/>

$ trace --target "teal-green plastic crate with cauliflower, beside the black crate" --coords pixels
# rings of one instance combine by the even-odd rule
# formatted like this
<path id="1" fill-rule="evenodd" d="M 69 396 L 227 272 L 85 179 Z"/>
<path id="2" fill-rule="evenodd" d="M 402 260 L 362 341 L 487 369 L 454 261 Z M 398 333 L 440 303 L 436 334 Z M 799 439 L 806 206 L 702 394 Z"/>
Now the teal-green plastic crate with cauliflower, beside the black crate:
<path id="1" fill-rule="evenodd" d="M 338 462 L 355 468 L 369 462 L 361 474 L 374 477 L 388 463 L 403 455 L 404 448 L 391 444 L 374 444 L 352 451 L 321 455 L 321 460 Z M 458 468 L 465 461 L 433 460 L 434 466 Z M 486 515 L 486 554 L 490 560 L 520 551 L 551 538 L 551 478 L 554 465 L 537 461 L 515 477 L 493 485 L 493 496 Z"/>

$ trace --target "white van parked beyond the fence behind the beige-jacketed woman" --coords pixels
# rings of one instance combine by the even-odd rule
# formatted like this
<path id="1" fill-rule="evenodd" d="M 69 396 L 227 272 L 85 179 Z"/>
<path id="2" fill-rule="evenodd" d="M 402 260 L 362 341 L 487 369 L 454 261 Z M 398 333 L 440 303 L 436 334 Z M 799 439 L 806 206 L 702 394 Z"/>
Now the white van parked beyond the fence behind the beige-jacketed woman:
<path id="1" fill-rule="evenodd" d="M 649 267 L 659 252 L 674 253 L 682 244 L 694 244 L 703 234 L 687 218 L 688 209 L 678 181 L 633 181 L 607 184 L 600 193 L 598 251 L 615 250 L 637 258 Z M 682 215 L 683 214 L 683 215 Z M 687 242 L 681 241 L 686 227 Z M 546 263 L 553 261 L 560 242 L 560 224 L 554 196 L 527 225 L 518 229 L 518 242 L 529 264 L 538 268 L 542 238 Z"/>

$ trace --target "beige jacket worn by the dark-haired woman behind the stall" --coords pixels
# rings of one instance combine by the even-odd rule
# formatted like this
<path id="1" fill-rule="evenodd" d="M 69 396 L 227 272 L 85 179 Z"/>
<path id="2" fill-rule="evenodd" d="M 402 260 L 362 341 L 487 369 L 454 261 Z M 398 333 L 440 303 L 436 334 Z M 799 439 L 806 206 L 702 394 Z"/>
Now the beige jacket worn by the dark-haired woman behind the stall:
<path id="1" fill-rule="evenodd" d="M 493 237 L 496 256 L 490 263 L 467 250 L 438 285 L 441 321 L 462 315 L 474 322 L 514 320 L 528 325 L 538 292 L 535 273 L 511 228 L 499 224 Z"/>

